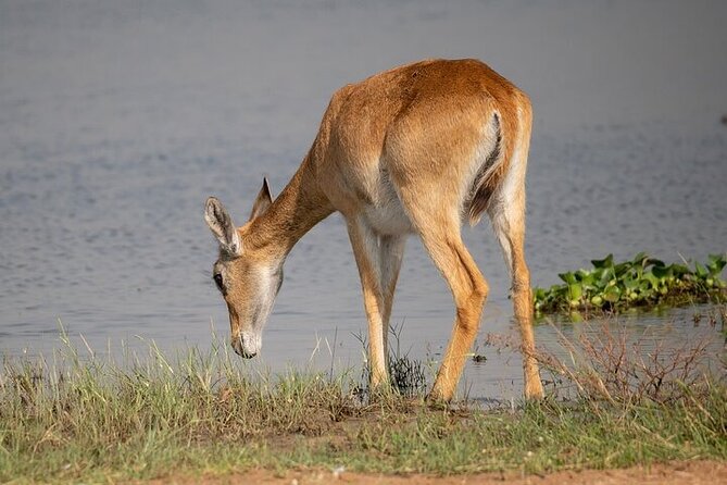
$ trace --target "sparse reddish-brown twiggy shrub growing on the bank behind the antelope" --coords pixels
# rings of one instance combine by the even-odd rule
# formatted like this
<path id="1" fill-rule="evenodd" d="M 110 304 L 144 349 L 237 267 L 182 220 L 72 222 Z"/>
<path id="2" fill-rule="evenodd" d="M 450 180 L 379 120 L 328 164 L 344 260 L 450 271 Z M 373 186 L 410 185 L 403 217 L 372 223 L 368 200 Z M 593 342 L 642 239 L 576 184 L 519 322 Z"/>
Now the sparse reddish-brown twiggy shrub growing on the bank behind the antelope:
<path id="1" fill-rule="evenodd" d="M 654 339 L 649 327 L 637 334 L 616 319 L 607 324 L 587 322 L 573 340 L 551 325 L 560 335 L 563 351 L 559 353 L 566 357 L 539 350 L 539 360 L 554 375 L 549 381 L 559 383 L 554 395 L 623 406 L 668 406 L 682 400 L 687 389 L 698 393 L 712 384 L 713 376 L 724 377 L 726 314 L 724 304 L 707 308 L 705 316 L 697 312 L 694 326 L 698 319 L 705 318 L 712 331 L 702 337 L 682 336 L 668 343 Z M 717 315 L 722 315 L 719 327 Z"/>

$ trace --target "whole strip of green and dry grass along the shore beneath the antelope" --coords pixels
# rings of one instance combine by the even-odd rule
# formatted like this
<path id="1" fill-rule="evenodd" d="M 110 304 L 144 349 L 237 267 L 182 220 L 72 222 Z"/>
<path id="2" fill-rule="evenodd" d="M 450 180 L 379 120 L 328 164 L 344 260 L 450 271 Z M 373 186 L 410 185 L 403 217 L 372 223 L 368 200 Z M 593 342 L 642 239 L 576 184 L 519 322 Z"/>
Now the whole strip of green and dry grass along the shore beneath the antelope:
<path id="1" fill-rule="evenodd" d="M 398 393 L 363 402 L 355 372 L 251 375 L 224 345 L 172 359 L 151 344 L 145 358 L 117 364 L 82 358 L 63 338 L 64 349 L 52 359 L 3 363 L 0 482 L 225 476 L 298 467 L 544 473 L 727 459 L 724 383 L 665 372 L 668 399 L 618 394 L 631 380 L 628 369 L 649 365 L 628 355 L 594 360 L 604 349 L 618 353 L 618 345 L 605 340 L 591 341 L 590 353 L 574 346 L 581 359 L 568 365 L 543 357 L 561 381 L 580 389 L 575 399 L 551 396 L 484 412 L 467 403 L 429 408 L 421 395 Z M 672 357 L 699 369 L 704 356 Z M 625 373 L 614 373 L 614 365 Z"/>

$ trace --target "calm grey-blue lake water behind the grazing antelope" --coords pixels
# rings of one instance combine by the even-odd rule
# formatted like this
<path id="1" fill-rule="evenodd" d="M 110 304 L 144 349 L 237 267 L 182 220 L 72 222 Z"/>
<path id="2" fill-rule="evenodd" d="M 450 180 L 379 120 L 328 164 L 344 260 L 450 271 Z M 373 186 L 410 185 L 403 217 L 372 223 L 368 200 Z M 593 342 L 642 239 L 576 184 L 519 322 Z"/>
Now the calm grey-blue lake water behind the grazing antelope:
<path id="1" fill-rule="evenodd" d="M 534 285 L 609 252 L 724 252 L 726 22 L 718 0 L 1 1 L 0 352 L 57 347 L 59 320 L 101 351 L 136 336 L 204 349 L 212 325 L 226 338 L 205 198 L 241 222 L 263 175 L 277 192 L 293 174 L 336 88 L 422 58 L 482 59 L 531 95 Z M 514 333 L 506 269 L 487 223 L 465 240 L 491 295 L 489 360 L 463 386 L 519 396 L 518 356 L 482 344 Z M 402 350 L 436 359 L 453 313 L 411 238 Z M 710 332 L 692 313 L 624 320 L 681 343 Z M 290 254 L 261 359 L 241 365 L 356 366 L 356 334 L 360 284 L 334 215 Z"/>

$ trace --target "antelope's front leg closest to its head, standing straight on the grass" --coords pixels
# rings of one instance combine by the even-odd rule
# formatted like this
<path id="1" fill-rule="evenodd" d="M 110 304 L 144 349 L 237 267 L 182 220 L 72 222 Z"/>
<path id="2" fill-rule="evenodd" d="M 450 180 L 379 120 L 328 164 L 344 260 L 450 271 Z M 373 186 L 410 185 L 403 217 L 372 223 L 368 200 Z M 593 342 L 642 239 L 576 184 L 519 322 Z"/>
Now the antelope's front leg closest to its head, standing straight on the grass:
<path id="1" fill-rule="evenodd" d="M 388 322 L 388 314 L 381 290 L 380 241 L 378 236 L 361 217 L 352 217 L 352 220 L 347 220 L 347 222 L 353 256 L 355 257 L 359 276 L 361 277 L 366 319 L 368 320 L 371 386 L 376 387 L 389 381 L 386 370 L 385 335 L 385 323 Z"/>

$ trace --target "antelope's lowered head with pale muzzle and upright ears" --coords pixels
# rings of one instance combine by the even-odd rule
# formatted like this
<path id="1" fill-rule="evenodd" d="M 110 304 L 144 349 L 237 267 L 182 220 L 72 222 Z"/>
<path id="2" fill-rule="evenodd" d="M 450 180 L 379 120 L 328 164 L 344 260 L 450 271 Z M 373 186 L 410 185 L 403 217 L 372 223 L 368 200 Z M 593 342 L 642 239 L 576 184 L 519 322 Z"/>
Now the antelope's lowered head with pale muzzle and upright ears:
<path id="1" fill-rule="evenodd" d="M 283 283 L 283 261 L 271 262 L 265 251 L 246 245 L 252 222 L 272 203 L 267 181 L 263 179 L 250 220 L 241 227 L 233 224 L 216 198 L 210 197 L 204 207 L 204 220 L 220 242 L 212 278 L 227 303 L 233 348 L 246 359 L 255 357 L 262 347 L 263 327 Z"/>

